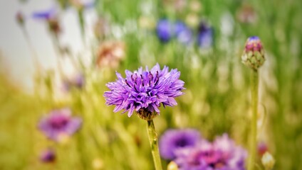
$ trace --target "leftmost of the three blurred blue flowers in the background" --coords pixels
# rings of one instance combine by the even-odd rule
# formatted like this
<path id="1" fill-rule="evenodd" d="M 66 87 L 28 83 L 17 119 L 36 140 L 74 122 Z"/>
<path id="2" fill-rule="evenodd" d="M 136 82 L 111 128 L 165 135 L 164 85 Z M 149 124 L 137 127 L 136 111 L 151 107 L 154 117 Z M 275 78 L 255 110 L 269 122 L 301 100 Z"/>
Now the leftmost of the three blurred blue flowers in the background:
<path id="1" fill-rule="evenodd" d="M 167 19 L 161 19 L 156 26 L 157 37 L 162 42 L 168 42 L 173 36 L 173 24 Z"/>

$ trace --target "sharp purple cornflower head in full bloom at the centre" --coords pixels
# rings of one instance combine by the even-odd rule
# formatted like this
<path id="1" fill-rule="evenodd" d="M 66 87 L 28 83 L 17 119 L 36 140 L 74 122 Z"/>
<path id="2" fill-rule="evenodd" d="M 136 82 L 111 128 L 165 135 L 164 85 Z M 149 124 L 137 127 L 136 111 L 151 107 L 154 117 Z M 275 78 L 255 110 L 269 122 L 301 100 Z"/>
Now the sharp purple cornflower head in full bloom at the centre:
<path id="1" fill-rule="evenodd" d="M 130 117 L 136 111 L 141 118 L 151 120 L 145 116 L 160 113 L 160 103 L 164 107 L 176 106 L 175 97 L 183 94 L 184 81 L 179 80 L 180 72 L 177 69 L 169 72 L 169 67 L 160 69 L 160 64 L 156 64 L 150 71 L 148 67 L 145 70 L 140 67 L 134 72 L 126 70 L 125 74 L 124 79 L 116 72 L 118 80 L 106 84 L 110 89 L 104 94 L 106 104 L 115 105 L 114 112 L 124 109 L 123 113 L 128 111 Z"/>

